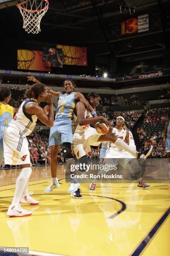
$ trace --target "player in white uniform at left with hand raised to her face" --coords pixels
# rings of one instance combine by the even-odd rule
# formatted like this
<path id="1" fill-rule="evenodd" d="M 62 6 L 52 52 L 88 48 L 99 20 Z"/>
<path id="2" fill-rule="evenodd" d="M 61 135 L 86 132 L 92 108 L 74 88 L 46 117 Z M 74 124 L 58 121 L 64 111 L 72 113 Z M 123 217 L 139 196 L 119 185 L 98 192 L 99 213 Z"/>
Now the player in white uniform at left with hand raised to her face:
<path id="1" fill-rule="evenodd" d="M 28 193 L 28 181 L 32 169 L 26 136 L 32 133 L 37 118 L 50 127 L 54 122 L 52 97 L 47 93 L 45 84 L 34 84 L 25 92 L 25 97 L 27 99 L 20 105 L 18 112 L 3 134 L 5 164 L 19 165 L 21 170 L 16 181 L 13 202 L 7 211 L 7 215 L 10 217 L 23 217 L 32 214 L 32 212 L 22 209 L 19 202 L 30 205 L 39 204 Z M 48 104 L 44 110 L 39 106 L 43 101 Z"/>

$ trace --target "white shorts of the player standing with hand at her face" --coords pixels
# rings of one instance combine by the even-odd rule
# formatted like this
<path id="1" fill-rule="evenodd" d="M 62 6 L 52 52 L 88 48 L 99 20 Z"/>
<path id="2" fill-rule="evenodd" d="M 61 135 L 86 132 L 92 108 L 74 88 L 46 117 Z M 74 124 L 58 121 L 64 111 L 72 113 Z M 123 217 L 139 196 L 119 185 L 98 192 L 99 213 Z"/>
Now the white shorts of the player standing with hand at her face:
<path id="1" fill-rule="evenodd" d="M 3 133 L 5 164 L 30 164 L 30 152 L 26 136 L 12 127 Z"/>

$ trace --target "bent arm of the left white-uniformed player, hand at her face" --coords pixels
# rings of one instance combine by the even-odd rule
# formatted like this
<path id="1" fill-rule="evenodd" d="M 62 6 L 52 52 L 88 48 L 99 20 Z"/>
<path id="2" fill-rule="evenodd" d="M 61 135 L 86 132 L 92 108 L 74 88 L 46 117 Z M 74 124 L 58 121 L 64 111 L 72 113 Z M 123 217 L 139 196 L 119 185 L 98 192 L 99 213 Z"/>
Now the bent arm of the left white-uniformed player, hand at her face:
<path id="1" fill-rule="evenodd" d="M 34 103 L 30 103 L 25 106 L 25 111 L 29 115 L 36 115 L 37 118 L 45 125 L 52 127 L 54 123 L 54 111 L 53 111 L 53 103 L 52 97 L 50 94 L 45 95 L 45 101 L 48 103 L 48 113 L 46 110 L 42 110 L 42 108 Z M 48 115 L 47 115 L 48 114 Z"/>

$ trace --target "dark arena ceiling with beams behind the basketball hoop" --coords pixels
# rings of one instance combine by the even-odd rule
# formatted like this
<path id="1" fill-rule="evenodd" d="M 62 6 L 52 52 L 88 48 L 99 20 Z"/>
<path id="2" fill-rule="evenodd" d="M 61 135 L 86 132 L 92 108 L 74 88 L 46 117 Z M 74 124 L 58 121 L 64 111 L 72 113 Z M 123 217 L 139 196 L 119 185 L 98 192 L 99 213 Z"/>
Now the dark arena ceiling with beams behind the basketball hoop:
<path id="1" fill-rule="evenodd" d="M 1 2 L 4 2 L 3 0 Z M 20 1 L 12 1 L 20 2 Z M 159 54 L 170 45 L 169 0 L 49 0 L 39 34 L 27 34 L 16 6 L 0 9 L 0 36 L 25 43 L 89 46 L 104 60 Z M 122 5 L 122 13 L 120 6 Z M 124 10 L 124 7 L 126 10 Z M 130 15 L 130 9 L 132 14 Z M 133 10 L 135 8 L 135 13 Z M 149 14 L 149 31 L 120 36 L 120 23 Z M 168 25 L 169 24 L 169 25 Z"/>

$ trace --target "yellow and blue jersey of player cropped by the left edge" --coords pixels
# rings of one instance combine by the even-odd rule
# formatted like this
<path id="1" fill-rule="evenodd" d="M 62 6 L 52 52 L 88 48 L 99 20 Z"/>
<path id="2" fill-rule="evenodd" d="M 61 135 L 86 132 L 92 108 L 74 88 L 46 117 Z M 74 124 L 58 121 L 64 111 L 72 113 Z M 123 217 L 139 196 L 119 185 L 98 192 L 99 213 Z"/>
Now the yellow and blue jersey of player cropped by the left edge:
<path id="1" fill-rule="evenodd" d="M 8 123 L 13 119 L 13 107 L 0 102 L 0 138 L 7 128 Z"/>

